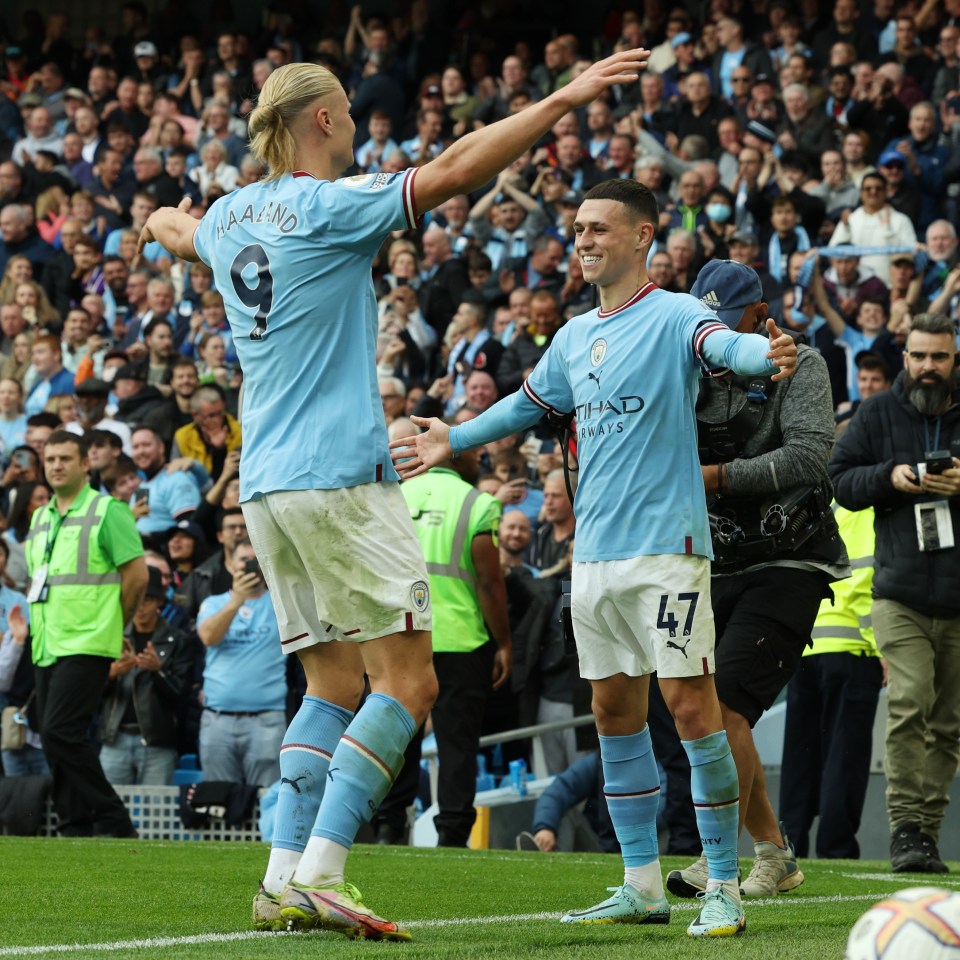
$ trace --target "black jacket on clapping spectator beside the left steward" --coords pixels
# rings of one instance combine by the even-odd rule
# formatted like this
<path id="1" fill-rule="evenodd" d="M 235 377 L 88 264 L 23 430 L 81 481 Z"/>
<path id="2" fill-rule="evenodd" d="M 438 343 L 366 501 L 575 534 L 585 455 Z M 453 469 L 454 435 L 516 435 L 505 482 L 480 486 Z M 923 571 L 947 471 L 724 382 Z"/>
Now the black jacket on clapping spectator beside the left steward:
<path id="1" fill-rule="evenodd" d="M 132 635 L 128 627 L 126 635 Z M 133 707 L 140 724 L 140 736 L 148 747 L 177 745 L 177 716 L 180 699 L 193 671 L 194 644 L 189 633 L 176 630 L 163 617 L 150 638 L 163 663 L 160 670 L 134 667 L 107 684 L 100 716 L 100 737 L 112 743 L 123 722 L 127 704 Z"/>

